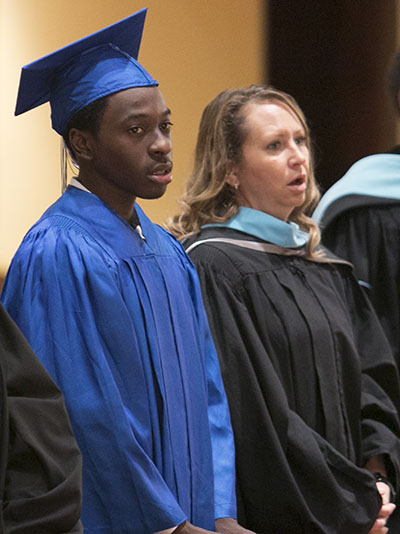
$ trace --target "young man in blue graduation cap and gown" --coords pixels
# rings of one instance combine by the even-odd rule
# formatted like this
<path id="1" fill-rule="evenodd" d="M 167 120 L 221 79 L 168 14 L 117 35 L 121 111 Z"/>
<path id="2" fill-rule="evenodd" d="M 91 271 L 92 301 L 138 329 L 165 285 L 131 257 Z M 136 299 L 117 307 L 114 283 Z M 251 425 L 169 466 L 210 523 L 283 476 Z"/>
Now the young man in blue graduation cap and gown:
<path id="1" fill-rule="evenodd" d="M 172 169 L 170 111 L 134 59 L 144 17 L 23 69 L 16 113 L 50 100 L 79 176 L 26 235 L 2 300 L 64 393 L 85 533 L 248 532 L 194 268 L 135 204 Z"/>

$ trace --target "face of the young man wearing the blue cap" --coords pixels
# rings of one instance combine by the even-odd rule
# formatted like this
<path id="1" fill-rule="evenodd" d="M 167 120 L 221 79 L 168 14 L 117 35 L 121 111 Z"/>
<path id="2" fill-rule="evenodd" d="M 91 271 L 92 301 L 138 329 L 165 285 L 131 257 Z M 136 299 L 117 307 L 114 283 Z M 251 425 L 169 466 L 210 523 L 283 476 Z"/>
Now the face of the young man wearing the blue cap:
<path id="1" fill-rule="evenodd" d="M 96 180 L 121 197 L 161 197 L 172 179 L 170 128 L 170 111 L 157 87 L 109 96 L 92 138 Z"/>

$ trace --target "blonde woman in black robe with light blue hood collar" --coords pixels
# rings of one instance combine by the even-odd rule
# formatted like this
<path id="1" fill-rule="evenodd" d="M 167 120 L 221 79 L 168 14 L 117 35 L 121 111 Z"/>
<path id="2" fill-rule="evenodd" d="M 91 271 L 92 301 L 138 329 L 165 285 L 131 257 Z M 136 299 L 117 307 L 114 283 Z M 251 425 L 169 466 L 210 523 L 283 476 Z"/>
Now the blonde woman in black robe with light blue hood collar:
<path id="1" fill-rule="evenodd" d="M 168 226 L 197 267 L 220 357 L 242 524 L 383 534 L 399 477 L 398 377 L 351 265 L 319 247 L 310 152 L 290 96 L 221 93 Z"/>

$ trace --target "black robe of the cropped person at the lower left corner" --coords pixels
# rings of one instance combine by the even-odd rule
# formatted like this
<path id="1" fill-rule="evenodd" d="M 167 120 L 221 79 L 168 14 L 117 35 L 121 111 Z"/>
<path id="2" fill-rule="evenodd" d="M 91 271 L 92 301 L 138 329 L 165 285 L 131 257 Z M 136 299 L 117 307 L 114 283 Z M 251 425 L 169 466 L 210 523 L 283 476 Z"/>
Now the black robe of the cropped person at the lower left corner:
<path id="1" fill-rule="evenodd" d="M 0 305 L 0 532 L 83 532 L 81 456 L 64 401 Z"/>

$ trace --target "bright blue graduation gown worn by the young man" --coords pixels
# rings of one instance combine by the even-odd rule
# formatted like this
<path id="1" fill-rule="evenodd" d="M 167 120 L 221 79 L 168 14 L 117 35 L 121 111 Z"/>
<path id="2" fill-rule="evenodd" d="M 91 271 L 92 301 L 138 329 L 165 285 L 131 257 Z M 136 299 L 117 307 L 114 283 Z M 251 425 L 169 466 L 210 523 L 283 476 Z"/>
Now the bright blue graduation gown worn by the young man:
<path id="1" fill-rule="evenodd" d="M 197 275 L 69 187 L 18 249 L 1 299 L 62 390 L 83 454 L 85 533 L 235 517 L 234 449 Z"/>

